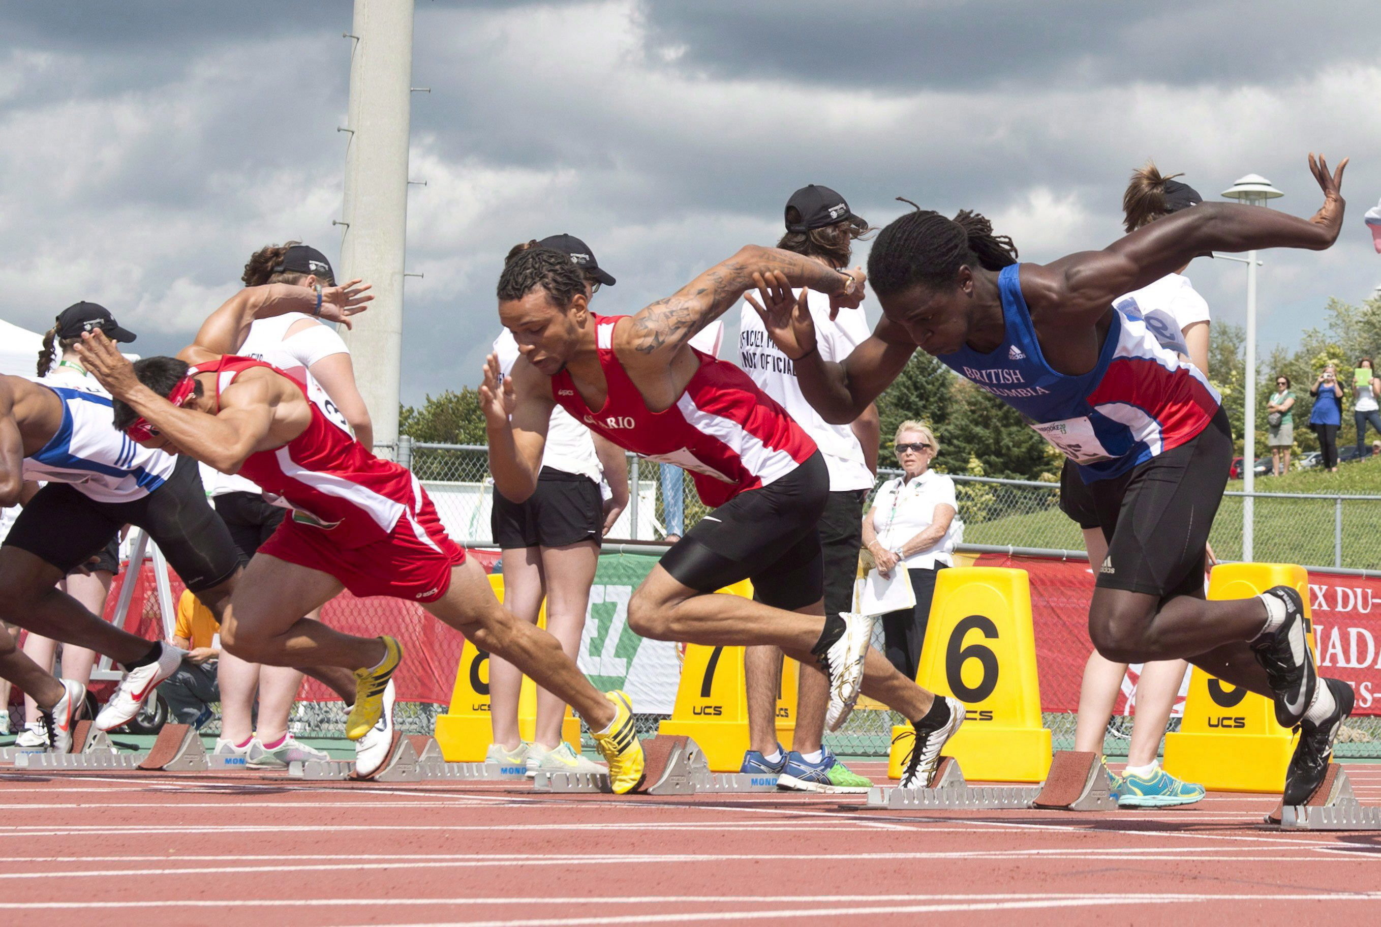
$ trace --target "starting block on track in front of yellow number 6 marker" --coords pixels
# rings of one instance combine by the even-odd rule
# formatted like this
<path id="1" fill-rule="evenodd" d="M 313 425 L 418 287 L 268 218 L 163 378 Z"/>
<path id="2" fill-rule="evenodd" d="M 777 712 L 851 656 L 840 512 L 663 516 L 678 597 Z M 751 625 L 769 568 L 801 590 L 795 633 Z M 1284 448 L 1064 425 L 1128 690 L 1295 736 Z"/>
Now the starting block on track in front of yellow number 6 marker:
<path id="1" fill-rule="evenodd" d="M 1061 750 L 1040 786 L 971 786 L 958 761 L 942 757 L 931 783 L 923 789 L 873 789 L 870 808 L 971 810 L 1055 808 L 1061 811 L 1116 811 L 1112 783 L 1095 753 Z"/>

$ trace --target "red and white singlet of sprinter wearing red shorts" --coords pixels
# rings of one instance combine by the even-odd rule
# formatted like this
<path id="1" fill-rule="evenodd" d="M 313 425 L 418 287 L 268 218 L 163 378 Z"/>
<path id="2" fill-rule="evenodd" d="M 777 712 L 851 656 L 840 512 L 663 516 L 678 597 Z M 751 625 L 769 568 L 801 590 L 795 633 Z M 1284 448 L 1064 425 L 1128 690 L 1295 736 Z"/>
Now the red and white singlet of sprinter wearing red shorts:
<path id="1" fill-rule="evenodd" d="M 220 402 L 221 391 L 253 367 L 286 376 L 302 391 L 312 410 L 312 421 L 302 434 L 275 450 L 250 455 L 240 467 L 240 472 L 267 493 L 280 496 L 293 508 L 294 521 L 326 529 L 340 547 L 363 547 L 388 539 L 399 518 L 423 506 L 416 477 L 391 460 L 380 460 L 355 441 L 344 424 L 333 421 L 320 387 L 312 390 L 271 363 L 229 355 L 191 367 L 188 374 L 218 373 L 215 395 Z"/>

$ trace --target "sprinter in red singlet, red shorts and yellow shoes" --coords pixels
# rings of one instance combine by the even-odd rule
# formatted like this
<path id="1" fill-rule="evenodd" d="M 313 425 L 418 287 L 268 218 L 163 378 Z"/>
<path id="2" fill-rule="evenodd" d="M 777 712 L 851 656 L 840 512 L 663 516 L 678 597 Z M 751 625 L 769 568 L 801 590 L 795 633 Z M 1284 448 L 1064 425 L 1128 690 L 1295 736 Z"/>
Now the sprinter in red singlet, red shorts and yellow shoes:
<path id="1" fill-rule="evenodd" d="M 318 315 L 327 308 L 326 318 L 348 323 L 363 308 L 358 285 L 327 290 L 337 307 L 323 304 L 316 287 Z M 244 569 L 221 624 L 225 648 L 253 663 L 354 670 L 345 732 L 359 739 L 380 718 L 402 659 L 398 642 L 342 634 L 302 615 L 342 587 L 420 602 L 574 707 L 609 760 L 613 790 L 637 787 L 642 749 L 627 698 L 602 695 L 554 637 L 494 600 L 483 571 L 446 536 L 417 478 L 356 442 L 311 374 L 297 380 L 233 356 L 253 319 L 247 300 L 232 298 L 178 358 L 133 366 L 104 336 L 81 345 L 87 369 L 115 396 L 117 428 L 146 448 L 243 472 L 293 510 Z"/>

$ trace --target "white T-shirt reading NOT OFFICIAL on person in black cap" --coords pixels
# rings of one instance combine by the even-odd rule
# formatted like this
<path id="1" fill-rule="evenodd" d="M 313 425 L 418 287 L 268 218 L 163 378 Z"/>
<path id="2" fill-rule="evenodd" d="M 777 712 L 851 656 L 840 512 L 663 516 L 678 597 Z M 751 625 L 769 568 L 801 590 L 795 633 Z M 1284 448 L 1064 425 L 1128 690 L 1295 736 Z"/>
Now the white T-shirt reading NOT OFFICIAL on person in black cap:
<path id="1" fill-rule="evenodd" d="M 794 293 L 800 296 L 801 290 Z M 838 318 L 831 322 L 830 297 L 815 290 L 807 296 L 807 305 L 815 322 L 815 344 L 822 361 L 844 361 L 871 334 L 862 309 L 840 309 Z M 747 300 L 739 311 L 739 366 L 760 390 L 780 402 L 815 441 L 830 470 L 830 492 L 873 488 L 873 471 L 863 460 L 863 446 L 853 428 L 830 424 L 807 402 L 795 379 L 795 365 L 778 350 L 758 311 Z"/>

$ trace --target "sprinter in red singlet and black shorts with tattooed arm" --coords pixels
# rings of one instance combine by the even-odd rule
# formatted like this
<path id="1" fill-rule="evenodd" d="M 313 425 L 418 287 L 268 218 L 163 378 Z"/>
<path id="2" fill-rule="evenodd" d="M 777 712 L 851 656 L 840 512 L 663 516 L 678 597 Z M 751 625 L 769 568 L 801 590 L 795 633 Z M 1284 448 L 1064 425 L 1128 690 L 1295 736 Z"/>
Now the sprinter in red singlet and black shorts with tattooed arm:
<path id="1" fill-rule="evenodd" d="M 802 669 L 819 663 L 830 680 L 830 729 L 862 687 L 913 723 L 902 786 L 927 785 L 963 706 L 870 649 L 871 619 L 826 619 L 816 532 L 830 490 L 824 460 L 743 370 L 689 344 L 773 275 L 840 305 L 862 298 L 862 274 L 749 246 L 637 315 L 598 316 L 570 256 L 539 247 L 514 257 L 499 279 L 499 318 L 522 356 L 504 377 L 490 355 L 481 387 L 494 486 L 514 501 L 532 495 L 557 405 L 620 448 L 689 470 L 715 510 L 653 566 L 628 602 L 628 626 L 663 641 L 772 644 Z M 743 579 L 755 601 L 715 594 Z"/>

